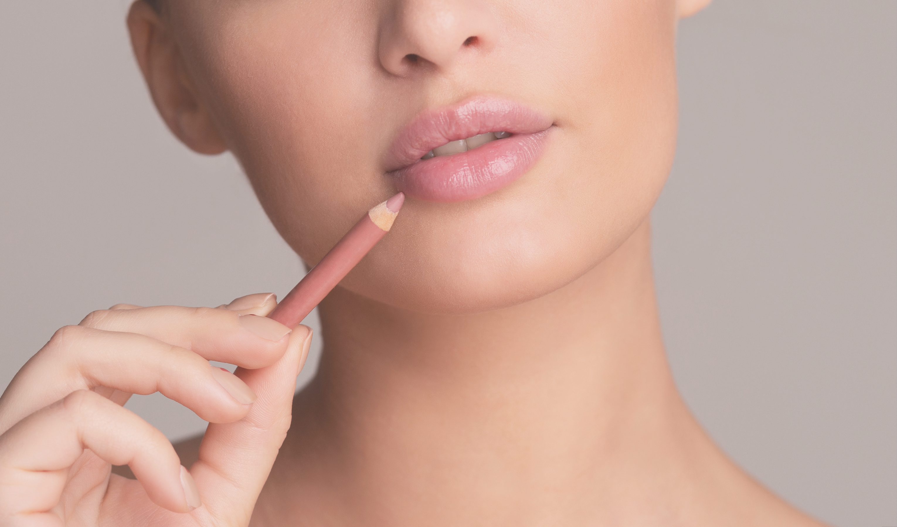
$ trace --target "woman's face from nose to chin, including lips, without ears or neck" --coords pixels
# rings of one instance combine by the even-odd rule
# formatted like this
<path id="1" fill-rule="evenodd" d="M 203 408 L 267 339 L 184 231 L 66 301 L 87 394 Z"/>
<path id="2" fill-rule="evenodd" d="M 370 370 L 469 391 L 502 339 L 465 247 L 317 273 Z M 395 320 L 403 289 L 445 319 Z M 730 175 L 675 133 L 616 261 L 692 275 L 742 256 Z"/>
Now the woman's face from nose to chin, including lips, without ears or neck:
<path id="1" fill-rule="evenodd" d="M 168 8 L 196 91 L 303 260 L 406 191 L 343 282 L 396 307 L 473 312 L 561 288 L 647 219 L 673 160 L 673 0 Z M 494 115 L 471 117 L 482 108 Z M 433 134 L 508 131 L 490 126 L 520 134 L 406 168 Z"/>

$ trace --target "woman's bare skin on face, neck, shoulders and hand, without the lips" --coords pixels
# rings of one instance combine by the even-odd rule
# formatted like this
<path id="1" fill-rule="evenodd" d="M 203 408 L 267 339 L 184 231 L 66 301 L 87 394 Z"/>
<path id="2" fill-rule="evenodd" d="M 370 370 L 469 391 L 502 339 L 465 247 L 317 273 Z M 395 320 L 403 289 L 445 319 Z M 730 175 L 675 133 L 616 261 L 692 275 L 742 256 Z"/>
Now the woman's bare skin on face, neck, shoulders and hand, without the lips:
<path id="1" fill-rule="evenodd" d="M 0 399 L 0 523 L 819 525 L 713 445 L 666 363 L 649 213 L 675 151 L 676 24 L 708 3 L 135 2 L 161 117 L 233 152 L 308 264 L 395 192 L 384 152 L 422 109 L 497 93 L 552 116 L 551 140 L 493 194 L 405 203 L 320 305 L 325 352 L 295 399 L 310 333 L 259 337 L 289 330 L 245 318 L 266 295 L 60 330 Z M 213 423 L 179 445 L 195 509 L 176 451 L 120 407 L 154 391 Z"/>

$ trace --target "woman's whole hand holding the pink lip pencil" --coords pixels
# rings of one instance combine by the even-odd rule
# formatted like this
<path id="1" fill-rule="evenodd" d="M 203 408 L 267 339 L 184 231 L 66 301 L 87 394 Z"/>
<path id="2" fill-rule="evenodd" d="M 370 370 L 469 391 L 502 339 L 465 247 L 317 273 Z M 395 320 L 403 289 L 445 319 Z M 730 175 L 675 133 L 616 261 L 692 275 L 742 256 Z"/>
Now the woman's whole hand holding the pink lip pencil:
<path id="1" fill-rule="evenodd" d="M 306 326 L 264 318 L 275 305 L 269 294 L 218 308 L 118 305 L 57 331 L 0 397 L 0 526 L 247 525 L 311 341 Z M 210 422 L 190 471 L 122 408 L 153 392 Z"/>

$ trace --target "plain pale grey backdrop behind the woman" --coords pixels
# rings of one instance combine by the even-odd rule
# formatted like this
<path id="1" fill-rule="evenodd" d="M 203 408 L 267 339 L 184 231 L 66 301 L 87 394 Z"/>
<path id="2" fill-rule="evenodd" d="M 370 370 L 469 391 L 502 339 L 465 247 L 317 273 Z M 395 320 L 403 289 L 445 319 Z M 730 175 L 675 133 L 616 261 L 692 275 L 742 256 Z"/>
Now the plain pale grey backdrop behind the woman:
<path id="1" fill-rule="evenodd" d="M 717 0 L 685 21 L 654 213 L 686 400 L 754 476 L 842 526 L 897 524 L 895 6 Z M 283 295 L 300 274 L 236 163 L 164 129 L 125 12 L 0 6 L 0 386 L 93 309 Z M 171 438 L 203 428 L 158 394 L 128 407 Z"/>

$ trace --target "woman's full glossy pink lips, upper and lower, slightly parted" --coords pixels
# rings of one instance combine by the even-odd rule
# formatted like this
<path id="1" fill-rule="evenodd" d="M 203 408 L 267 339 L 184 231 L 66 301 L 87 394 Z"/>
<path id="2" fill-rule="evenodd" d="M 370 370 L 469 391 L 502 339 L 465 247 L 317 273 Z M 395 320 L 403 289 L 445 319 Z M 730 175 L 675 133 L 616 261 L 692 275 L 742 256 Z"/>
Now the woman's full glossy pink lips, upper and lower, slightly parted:
<path id="1" fill-rule="evenodd" d="M 432 202 L 472 200 L 507 186 L 542 155 L 552 120 L 508 99 L 478 96 L 445 108 L 424 110 L 396 137 L 386 168 L 396 188 Z M 505 139 L 474 150 L 421 160 L 450 141 L 487 132 Z"/>

